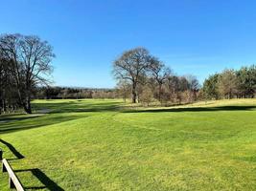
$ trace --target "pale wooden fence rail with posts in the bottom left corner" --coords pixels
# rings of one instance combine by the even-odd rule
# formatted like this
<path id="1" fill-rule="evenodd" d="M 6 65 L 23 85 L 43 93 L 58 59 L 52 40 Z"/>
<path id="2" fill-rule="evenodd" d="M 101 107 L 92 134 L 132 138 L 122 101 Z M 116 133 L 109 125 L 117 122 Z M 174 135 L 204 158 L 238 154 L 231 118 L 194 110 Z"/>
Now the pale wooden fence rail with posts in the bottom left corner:
<path id="1" fill-rule="evenodd" d="M 11 165 L 7 161 L 7 159 L 2 159 L 2 171 L 8 172 L 9 174 L 9 187 L 10 188 L 16 188 L 17 191 L 24 191 L 23 185 L 18 180 L 17 176 L 12 170 Z"/>

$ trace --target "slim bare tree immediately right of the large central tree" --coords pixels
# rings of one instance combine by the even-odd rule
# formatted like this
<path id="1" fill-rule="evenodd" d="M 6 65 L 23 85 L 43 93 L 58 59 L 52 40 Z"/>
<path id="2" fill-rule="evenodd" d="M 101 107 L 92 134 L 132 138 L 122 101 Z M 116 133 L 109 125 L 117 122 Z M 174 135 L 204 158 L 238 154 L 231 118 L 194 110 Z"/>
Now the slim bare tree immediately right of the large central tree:
<path id="1" fill-rule="evenodd" d="M 156 57 L 151 57 L 150 73 L 158 86 L 157 99 L 162 103 L 163 85 L 171 75 L 171 69 L 166 67 Z"/>

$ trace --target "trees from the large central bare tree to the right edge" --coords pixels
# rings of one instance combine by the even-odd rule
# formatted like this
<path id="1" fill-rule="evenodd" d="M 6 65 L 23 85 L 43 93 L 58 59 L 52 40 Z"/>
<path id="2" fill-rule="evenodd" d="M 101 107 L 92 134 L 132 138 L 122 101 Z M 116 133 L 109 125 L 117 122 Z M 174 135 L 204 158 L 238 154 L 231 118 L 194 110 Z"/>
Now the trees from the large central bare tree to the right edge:
<path id="1" fill-rule="evenodd" d="M 125 100 L 149 105 L 190 103 L 221 98 L 253 98 L 256 96 L 256 66 L 239 70 L 226 69 L 212 74 L 200 87 L 194 75 L 178 76 L 145 48 L 123 53 L 113 62 L 117 87 Z"/>

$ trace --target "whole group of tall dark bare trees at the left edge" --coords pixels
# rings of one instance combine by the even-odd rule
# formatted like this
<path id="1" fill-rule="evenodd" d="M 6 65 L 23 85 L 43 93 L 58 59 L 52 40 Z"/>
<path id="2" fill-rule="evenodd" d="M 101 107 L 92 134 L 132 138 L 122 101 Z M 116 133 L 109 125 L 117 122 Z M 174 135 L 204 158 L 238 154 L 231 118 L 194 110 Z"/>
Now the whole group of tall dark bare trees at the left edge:
<path id="1" fill-rule="evenodd" d="M 0 114 L 23 108 L 32 113 L 35 88 L 49 84 L 52 46 L 35 35 L 0 35 Z"/>

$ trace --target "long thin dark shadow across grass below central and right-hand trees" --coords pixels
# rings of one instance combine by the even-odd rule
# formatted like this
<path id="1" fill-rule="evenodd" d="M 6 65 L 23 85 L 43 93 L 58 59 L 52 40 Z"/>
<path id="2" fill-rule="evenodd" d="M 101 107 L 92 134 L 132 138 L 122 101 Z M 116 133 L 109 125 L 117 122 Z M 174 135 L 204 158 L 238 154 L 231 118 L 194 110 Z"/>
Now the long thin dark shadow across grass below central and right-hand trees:
<path id="1" fill-rule="evenodd" d="M 166 108 L 166 109 L 146 109 L 127 110 L 123 113 L 161 113 L 161 112 L 217 112 L 217 111 L 251 111 L 256 106 L 221 106 L 221 107 L 188 107 L 188 108 Z"/>

